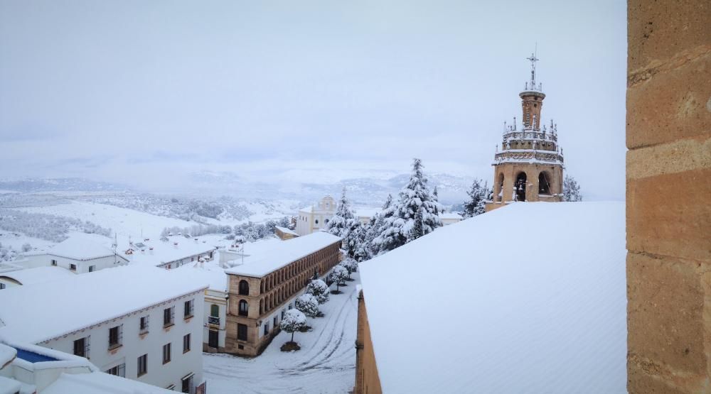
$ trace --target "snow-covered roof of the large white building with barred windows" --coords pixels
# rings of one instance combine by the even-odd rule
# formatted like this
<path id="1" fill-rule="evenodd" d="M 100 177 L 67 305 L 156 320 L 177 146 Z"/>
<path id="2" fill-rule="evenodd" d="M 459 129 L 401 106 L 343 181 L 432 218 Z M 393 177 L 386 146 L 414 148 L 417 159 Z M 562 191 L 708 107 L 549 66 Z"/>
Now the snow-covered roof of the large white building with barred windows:
<path id="1" fill-rule="evenodd" d="M 187 275 L 129 265 L 6 288 L 0 337 L 36 344 L 207 287 Z"/>

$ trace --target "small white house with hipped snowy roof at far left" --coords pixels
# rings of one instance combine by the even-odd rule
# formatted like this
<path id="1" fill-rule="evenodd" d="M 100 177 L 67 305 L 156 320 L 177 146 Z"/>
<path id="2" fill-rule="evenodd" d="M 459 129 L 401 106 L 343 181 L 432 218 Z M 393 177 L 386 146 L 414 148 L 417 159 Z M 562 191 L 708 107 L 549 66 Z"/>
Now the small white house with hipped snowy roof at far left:
<path id="1" fill-rule="evenodd" d="M 74 234 L 46 251 L 24 253 L 26 261 L 23 266 L 58 266 L 74 273 L 89 273 L 128 263 L 128 259 L 116 253 L 110 244 L 105 236 Z"/>

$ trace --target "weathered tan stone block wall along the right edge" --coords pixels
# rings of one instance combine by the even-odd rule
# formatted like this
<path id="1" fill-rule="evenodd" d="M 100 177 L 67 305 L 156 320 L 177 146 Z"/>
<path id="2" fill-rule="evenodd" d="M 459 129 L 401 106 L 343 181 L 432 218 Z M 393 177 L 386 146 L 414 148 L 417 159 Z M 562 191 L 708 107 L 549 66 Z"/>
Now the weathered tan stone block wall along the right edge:
<path id="1" fill-rule="evenodd" d="M 711 2 L 628 2 L 630 393 L 711 392 Z"/>

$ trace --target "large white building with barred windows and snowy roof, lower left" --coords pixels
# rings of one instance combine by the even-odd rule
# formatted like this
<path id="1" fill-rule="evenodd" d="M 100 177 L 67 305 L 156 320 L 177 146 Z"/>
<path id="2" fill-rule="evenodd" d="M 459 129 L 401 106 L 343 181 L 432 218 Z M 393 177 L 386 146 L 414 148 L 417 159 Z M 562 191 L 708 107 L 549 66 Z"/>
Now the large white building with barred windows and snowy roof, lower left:
<path id="1" fill-rule="evenodd" d="M 195 393 L 207 284 L 131 265 L 0 292 L 0 339 L 84 356 L 101 371 Z"/>

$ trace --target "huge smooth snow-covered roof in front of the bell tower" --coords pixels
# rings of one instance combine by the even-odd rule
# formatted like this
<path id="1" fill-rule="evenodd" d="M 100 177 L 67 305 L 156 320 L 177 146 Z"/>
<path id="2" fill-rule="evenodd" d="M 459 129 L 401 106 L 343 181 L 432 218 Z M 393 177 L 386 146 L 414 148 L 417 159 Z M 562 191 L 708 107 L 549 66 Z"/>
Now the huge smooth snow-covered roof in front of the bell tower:
<path id="1" fill-rule="evenodd" d="M 625 256 L 624 203 L 526 202 L 361 263 L 383 392 L 625 393 Z"/>

